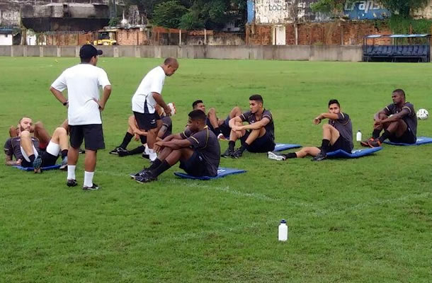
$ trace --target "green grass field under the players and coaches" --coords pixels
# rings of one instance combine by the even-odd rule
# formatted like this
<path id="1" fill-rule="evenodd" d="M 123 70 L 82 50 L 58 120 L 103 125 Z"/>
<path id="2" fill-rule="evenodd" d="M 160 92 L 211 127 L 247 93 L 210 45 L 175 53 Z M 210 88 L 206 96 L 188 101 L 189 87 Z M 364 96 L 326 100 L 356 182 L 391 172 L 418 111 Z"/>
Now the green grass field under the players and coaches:
<path id="1" fill-rule="evenodd" d="M 77 60 L 57 60 L 0 57 L 2 141 L 23 115 L 50 132 L 65 119 L 48 88 Z M 103 112 L 107 147 L 98 152 L 94 179 L 101 190 L 69 189 L 64 172 L 0 166 L 0 282 L 432 282 L 431 145 L 320 163 L 246 153 L 221 166 L 248 172 L 222 180 L 180 180 L 178 168 L 155 183 L 130 180 L 148 161 L 108 151 L 123 139 L 132 93 L 160 62 L 99 59 L 113 84 Z M 395 88 L 416 109 L 432 110 L 431 64 L 180 63 L 163 93 L 176 103 L 175 132 L 193 100 L 224 117 L 234 105 L 247 108 L 253 93 L 273 112 L 277 141 L 303 145 L 320 144 L 322 128 L 312 119 L 330 98 L 363 137 Z M 419 135 L 432 137 L 431 122 L 419 121 Z M 290 239 L 279 243 L 283 218 Z"/>

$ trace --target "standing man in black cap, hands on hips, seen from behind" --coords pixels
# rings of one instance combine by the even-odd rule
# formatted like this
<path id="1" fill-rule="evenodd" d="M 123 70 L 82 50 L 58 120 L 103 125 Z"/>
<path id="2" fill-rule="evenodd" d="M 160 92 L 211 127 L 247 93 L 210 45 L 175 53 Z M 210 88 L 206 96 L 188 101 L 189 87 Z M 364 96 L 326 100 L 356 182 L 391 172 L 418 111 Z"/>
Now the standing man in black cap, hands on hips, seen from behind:
<path id="1" fill-rule="evenodd" d="M 83 45 L 79 50 L 81 64 L 66 69 L 52 83 L 50 91 L 64 105 L 68 107 L 70 148 L 67 155 L 67 186 L 78 185 L 75 178 L 76 162 L 79 156 L 79 146 L 83 139 L 86 147 L 84 159 L 83 190 L 98 190 L 93 183 L 96 168 L 96 152 L 105 149 L 101 111 L 111 94 L 111 83 L 106 72 L 96 67 L 98 55 L 102 50 L 96 50 L 93 45 Z M 103 89 L 100 99 L 99 87 Z M 62 91 L 67 88 L 67 98 Z"/>

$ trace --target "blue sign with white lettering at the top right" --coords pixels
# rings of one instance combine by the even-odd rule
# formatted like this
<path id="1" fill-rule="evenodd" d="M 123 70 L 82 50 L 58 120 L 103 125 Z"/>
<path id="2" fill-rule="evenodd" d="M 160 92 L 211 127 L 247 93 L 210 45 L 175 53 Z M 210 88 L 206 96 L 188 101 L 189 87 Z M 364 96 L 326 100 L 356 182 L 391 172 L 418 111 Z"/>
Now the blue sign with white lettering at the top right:
<path id="1" fill-rule="evenodd" d="M 379 0 L 354 1 L 345 4 L 343 15 L 350 20 L 375 20 L 389 17 L 390 11 Z"/>

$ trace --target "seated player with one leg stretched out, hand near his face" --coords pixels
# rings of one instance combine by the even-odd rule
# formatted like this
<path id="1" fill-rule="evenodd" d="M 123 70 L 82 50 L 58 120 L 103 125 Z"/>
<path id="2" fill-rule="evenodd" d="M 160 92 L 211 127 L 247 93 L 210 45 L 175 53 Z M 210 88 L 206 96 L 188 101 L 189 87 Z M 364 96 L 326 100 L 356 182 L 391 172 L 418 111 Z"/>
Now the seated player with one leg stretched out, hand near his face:
<path id="1" fill-rule="evenodd" d="M 322 161 L 331 151 L 342 149 L 351 154 L 353 150 L 353 126 L 348 114 L 341 112 L 341 105 L 336 99 L 329 101 L 329 112 L 322 113 L 314 119 L 314 124 L 319 125 L 323 119 L 329 119 L 328 124 L 322 125 L 322 145 L 321 147 L 309 146 L 300 151 L 290 154 L 275 154 L 268 152 L 268 158 L 283 161 L 288 158 L 303 158 L 314 156 L 312 161 Z"/>

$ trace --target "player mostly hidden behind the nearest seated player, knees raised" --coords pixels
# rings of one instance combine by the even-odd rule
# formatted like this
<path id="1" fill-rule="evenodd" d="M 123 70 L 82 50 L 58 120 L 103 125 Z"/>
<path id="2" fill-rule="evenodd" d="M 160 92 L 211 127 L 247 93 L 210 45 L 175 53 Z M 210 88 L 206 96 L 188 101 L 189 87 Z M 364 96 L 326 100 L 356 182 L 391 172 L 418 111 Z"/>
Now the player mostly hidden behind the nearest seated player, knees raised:
<path id="1" fill-rule="evenodd" d="M 195 100 L 192 103 L 193 110 L 202 110 L 205 112 L 205 105 L 203 100 Z M 229 115 L 223 119 L 217 117 L 217 112 L 215 108 L 210 108 L 207 114 L 207 120 L 205 120 L 205 125 L 208 125 L 209 129 L 215 133 L 217 139 L 229 139 L 229 134 L 231 133 L 231 127 L 229 127 L 229 120 L 234 117 L 241 115 L 241 109 L 236 106 L 232 108 Z"/>

